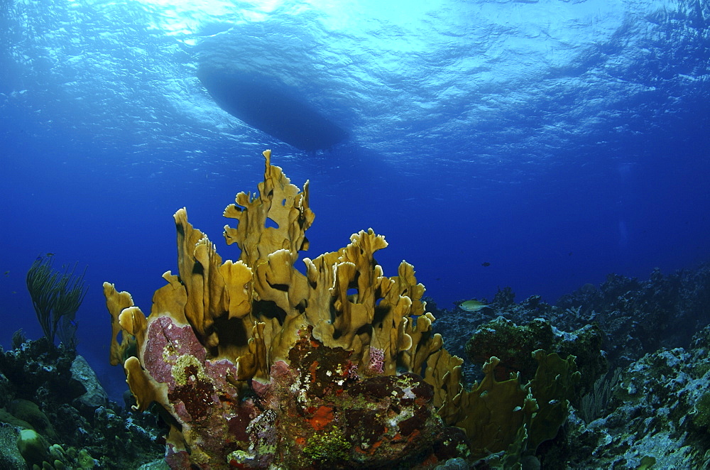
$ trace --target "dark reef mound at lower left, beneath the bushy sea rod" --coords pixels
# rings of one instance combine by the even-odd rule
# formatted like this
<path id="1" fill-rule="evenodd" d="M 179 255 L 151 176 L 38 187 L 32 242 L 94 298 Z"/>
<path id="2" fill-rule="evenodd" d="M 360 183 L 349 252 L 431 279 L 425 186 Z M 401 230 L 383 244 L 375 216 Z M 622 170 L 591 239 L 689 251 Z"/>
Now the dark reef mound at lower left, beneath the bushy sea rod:
<path id="1" fill-rule="evenodd" d="M 82 356 L 45 337 L 0 349 L 0 468 L 127 469 L 155 459 L 151 415 L 130 416 Z"/>

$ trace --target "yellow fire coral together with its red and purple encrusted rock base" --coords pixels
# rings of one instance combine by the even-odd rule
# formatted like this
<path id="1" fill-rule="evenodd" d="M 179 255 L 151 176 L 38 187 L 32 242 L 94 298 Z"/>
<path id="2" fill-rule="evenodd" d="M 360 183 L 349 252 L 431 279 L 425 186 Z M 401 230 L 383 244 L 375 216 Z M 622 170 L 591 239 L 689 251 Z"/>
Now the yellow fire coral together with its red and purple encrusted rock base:
<path id="1" fill-rule="evenodd" d="M 383 452 L 399 452 L 400 459 L 418 455 L 422 445 L 431 445 L 423 437 L 444 425 L 466 430 L 474 457 L 525 437 L 523 427 L 536 409 L 530 391 L 516 378 L 496 381 L 496 358 L 486 364 L 484 380 L 464 390 L 461 359 L 432 333 L 435 318 L 425 310 L 413 266 L 403 261 L 398 275 L 388 277 L 376 263 L 374 253 L 387 246 L 383 236 L 360 231 L 338 251 L 304 258 L 305 274 L 295 268 L 315 219 L 309 186 L 301 192 L 271 165 L 270 151 L 263 155 L 258 194 L 240 192 L 224 211 L 237 221 L 224 230 L 227 244 L 241 249 L 237 261 L 223 262 L 183 208 L 174 215 L 178 275 L 163 275 L 167 284 L 155 291 L 148 318 L 131 295 L 104 283 L 111 364 L 124 363 L 136 409 L 156 402 L 175 418 L 171 465 L 222 468 L 232 459 L 228 463 L 261 468 L 279 452 L 280 458 L 303 454 L 305 439 L 276 444 L 272 432 L 262 442 L 275 420 L 288 427 L 294 415 L 305 416 L 307 429 L 291 432 L 350 432 L 343 443 L 358 444 L 339 452 L 351 452 L 349 458 L 363 465 L 393 458 Z M 294 362 L 295 370 L 289 368 Z M 254 394 L 262 405 L 246 396 Z M 283 408 L 278 400 L 284 399 L 293 403 Z M 295 406 L 300 408 L 279 415 Z M 403 406 L 416 408 L 404 412 Z M 400 410 L 394 414 L 402 421 L 382 424 L 392 410 Z M 442 419 L 433 419 L 436 413 Z M 349 430 L 349 422 L 364 419 L 370 421 L 367 432 Z M 388 444 L 380 447 L 383 442 Z M 286 450 L 275 451 L 283 445 Z"/>

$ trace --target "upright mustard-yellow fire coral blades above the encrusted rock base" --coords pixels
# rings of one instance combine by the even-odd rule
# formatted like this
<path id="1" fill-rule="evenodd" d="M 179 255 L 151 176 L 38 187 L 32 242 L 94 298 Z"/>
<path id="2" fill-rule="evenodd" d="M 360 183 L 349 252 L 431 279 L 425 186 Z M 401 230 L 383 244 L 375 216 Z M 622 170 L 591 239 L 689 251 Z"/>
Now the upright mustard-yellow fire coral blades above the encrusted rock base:
<path id="1" fill-rule="evenodd" d="M 433 317 L 424 311 L 424 287 L 417 284 L 413 266 L 403 262 L 398 276 L 384 276 L 373 254 L 387 242 L 370 229 L 351 236 L 351 243 L 337 252 L 305 258 L 306 274 L 298 272 L 297 252 L 307 248 L 305 231 L 315 218 L 308 206 L 308 184 L 299 192 L 271 165 L 271 152 L 264 156 L 266 171 L 258 195 L 240 192 L 236 204 L 224 211 L 225 217 L 239 222 L 224 231 L 227 243 L 241 248 L 239 261 L 222 263 L 214 244 L 187 222 L 186 209 L 178 210 L 179 278 L 169 271 L 163 275 L 168 285 L 155 293 L 151 315 L 168 313 L 190 324 L 214 358 L 241 362 L 243 369 L 261 362 L 253 371 L 259 378 L 266 378 L 274 361 L 288 363 L 297 332 L 307 327 L 325 346 L 352 351 L 357 361 L 369 361 L 371 347 L 383 350 L 388 374 L 420 371 L 427 357 L 441 348 L 442 339 L 430 334 Z M 267 219 L 276 226 L 269 226 Z M 356 294 L 350 295 L 351 289 Z M 114 317 L 115 363 L 127 338 L 142 343 L 146 322 L 136 316 L 137 307 L 130 317 L 124 312 L 133 307 L 128 293 L 116 293 L 108 284 L 104 290 Z M 123 322 L 119 315 L 124 315 Z M 122 345 L 116 342 L 120 329 L 128 333 Z M 263 341 L 268 349 L 266 361 L 250 359 L 255 341 Z M 241 380 L 253 377 L 244 371 L 239 375 Z"/>

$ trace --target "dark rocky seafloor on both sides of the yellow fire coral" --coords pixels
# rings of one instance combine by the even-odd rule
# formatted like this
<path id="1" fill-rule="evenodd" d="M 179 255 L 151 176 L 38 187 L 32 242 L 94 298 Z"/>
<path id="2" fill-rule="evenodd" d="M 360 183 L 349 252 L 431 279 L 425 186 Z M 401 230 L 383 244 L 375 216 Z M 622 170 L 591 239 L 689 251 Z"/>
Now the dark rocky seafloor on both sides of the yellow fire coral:
<path id="1" fill-rule="evenodd" d="M 648 280 L 609 275 L 556 305 L 537 296 L 515 302 L 510 288 L 489 300 L 463 312 L 427 299 L 433 329 L 464 358 L 467 381 L 496 356 L 498 380 L 519 373 L 526 383 L 539 349 L 574 355 L 580 373 L 564 425 L 514 466 L 710 468 L 710 266 L 655 270 Z M 0 469 L 168 468 L 158 410 L 110 402 L 72 349 L 13 343 L 0 350 Z M 509 468 L 490 459 L 437 466 Z"/>

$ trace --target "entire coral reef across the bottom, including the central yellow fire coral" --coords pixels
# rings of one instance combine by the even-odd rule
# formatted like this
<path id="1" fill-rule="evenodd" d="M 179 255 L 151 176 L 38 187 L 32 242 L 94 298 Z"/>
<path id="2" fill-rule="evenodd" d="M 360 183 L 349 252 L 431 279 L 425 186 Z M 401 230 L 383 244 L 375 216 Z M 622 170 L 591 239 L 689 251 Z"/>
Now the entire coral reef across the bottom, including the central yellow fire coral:
<path id="1" fill-rule="evenodd" d="M 67 344 L 0 349 L 0 468 L 710 466 L 710 266 L 461 315 L 371 230 L 299 266 L 309 187 L 265 156 L 224 212 L 235 261 L 180 209 L 151 315 L 104 284 L 133 410 Z"/>

